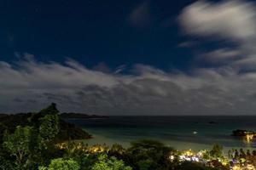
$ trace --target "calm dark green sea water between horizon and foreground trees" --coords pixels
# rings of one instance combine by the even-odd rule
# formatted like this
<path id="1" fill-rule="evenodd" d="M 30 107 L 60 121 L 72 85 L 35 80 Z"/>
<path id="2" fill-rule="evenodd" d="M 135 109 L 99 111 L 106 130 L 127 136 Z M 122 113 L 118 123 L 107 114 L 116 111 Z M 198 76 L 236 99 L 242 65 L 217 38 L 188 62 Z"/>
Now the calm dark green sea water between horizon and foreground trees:
<path id="1" fill-rule="evenodd" d="M 212 144 L 222 144 L 226 150 L 256 150 L 256 140 L 248 144 L 245 139 L 231 136 L 236 129 L 256 131 L 256 116 L 110 116 L 68 121 L 94 136 L 86 141 L 89 144 L 128 146 L 137 139 L 157 139 L 178 150 L 207 149 Z"/>

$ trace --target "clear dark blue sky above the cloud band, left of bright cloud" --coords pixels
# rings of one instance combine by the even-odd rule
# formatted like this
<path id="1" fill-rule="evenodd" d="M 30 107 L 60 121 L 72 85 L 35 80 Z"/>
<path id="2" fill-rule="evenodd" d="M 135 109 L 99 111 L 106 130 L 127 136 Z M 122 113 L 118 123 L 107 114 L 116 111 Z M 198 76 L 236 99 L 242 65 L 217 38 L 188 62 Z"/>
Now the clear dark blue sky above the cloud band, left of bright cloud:
<path id="1" fill-rule="evenodd" d="M 88 67 L 100 62 L 112 68 L 142 63 L 186 70 L 193 53 L 177 47 L 186 38 L 177 15 L 193 2 L 2 1 L 0 58 L 16 60 L 16 52 L 43 61 L 62 62 L 69 57 Z M 131 13 L 137 8 L 142 16 L 134 21 Z"/>

